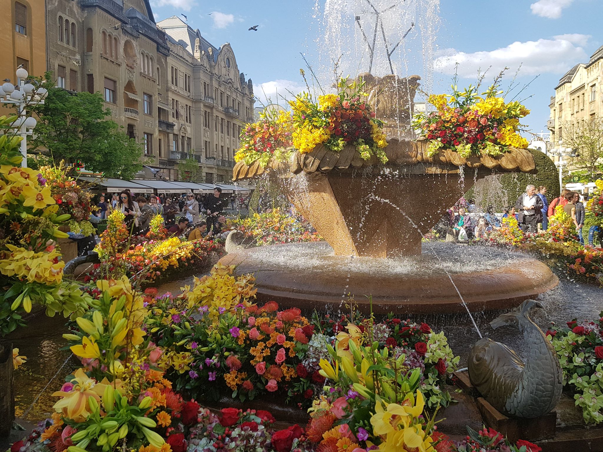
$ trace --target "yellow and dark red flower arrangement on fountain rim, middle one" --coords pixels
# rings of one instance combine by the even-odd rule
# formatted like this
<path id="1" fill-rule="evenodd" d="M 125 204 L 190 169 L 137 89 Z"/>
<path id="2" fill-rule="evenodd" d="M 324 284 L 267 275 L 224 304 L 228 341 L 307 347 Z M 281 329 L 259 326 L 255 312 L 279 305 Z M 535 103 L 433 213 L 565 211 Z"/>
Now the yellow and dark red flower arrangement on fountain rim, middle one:
<path id="1" fill-rule="evenodd" d="M 305 154 L 323 144 L 339 152 L 352 144 L 362 159 L 375 156 L 387 162 L 383 122 L 375 118 L 365 100 L 368 95 L 362 91 L 364 84 L 362 80 L 349 83 L 349 78 L 342 78 L 336 94 L 324 94 L 314 101 L 310 93 L 303 92 L 290 101 L 294 148 Z"/>

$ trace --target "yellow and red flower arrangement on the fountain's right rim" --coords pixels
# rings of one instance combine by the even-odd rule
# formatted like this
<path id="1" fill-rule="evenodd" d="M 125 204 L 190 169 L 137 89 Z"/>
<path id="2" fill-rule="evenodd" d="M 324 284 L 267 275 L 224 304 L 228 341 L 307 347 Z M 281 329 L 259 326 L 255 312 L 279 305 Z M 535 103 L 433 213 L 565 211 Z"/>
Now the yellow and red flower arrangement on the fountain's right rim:
<path id="1" fill-rule="evenodd" d="M 502 74 L 501 74 L 502 75 Z M 500 155 L 510 147 L 527 148 L 528 141 L 519 135 L 519 119 L 529 114 L 520 102 L 505 102 L 500 96 L 500 76 L 490 88 L 478 94 L 470 85 L 463 92 L 452 84 L 452 94 L 430 95 L 435 111 L 417 113 L 414 127 L 429 140 L 428 155 L 440 149 L 471 155 Z"/>

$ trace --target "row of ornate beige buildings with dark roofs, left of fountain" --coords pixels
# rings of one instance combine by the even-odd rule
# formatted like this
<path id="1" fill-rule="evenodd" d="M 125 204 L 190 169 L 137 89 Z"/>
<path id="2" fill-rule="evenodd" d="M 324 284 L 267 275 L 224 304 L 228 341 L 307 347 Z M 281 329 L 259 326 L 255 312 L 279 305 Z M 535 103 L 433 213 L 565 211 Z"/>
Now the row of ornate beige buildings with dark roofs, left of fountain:
<path id="1" fill-rule="evenodd" d="M 57 86 L 103 93 L 144 145 L 138 177 L 177 180 L 178 162 L 194 159 L 197 181 L 230 180 L 254 98 L 229 43 L 216 48 L 175 16 L 156 24 L 149 0 L 53 0 L 46 22 Z"/>

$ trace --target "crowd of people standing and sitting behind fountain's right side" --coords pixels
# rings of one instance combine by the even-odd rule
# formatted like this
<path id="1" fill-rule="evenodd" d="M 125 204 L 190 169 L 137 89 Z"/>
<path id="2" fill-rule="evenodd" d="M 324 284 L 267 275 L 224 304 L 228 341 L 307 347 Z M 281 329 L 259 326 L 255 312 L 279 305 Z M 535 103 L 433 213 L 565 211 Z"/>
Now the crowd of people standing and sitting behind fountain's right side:
<path id="1" fill-rule="evenodd" d="M 586 219 L 584 204 L 589 199 L 588 195 L 581 195 L 581 193 L 563 189 L 561 195 L 549 203 L 546 192 L 545 186 L 528 185 L 525 192 L 517 198 L 515 204 L 503 209 L 502 218 L 514 216 L 524 232 L 535 234 L 538 231 L 546 231 L 549 218 L 555 215 L 555 209 L 563 207 L 563 212 L 572 218 L 578 233 L 578 239 L 584 245 L 583 229 Z M 476 206 L 471 199 L 467 202 L 467 207 L 455 206 L 448 210 L 447 225 L 456 240 L 463 242 L 474 238 L 482 239 L 488 231 L 500 227 L 500 221 L 494 214 L 493 206 L 488 206 L 486 212 L 479 216 L 477 221 L 474 220 L 474 224 L 469 214 L 475 212 Z M 596 226 L 589 228 L 587 239 L 591 245 L 598 235 L 603 235 L 601 228 Z M 601 237 L 599 237 L 600 240 Z"/>

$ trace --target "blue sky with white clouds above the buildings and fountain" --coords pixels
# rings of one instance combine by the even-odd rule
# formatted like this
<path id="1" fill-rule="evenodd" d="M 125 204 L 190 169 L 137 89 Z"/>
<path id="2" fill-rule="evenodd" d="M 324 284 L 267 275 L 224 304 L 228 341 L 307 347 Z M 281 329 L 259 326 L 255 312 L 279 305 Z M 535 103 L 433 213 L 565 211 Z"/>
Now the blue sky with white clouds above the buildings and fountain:
<path id="1" fill-rule="evenodd" d="M 219 47 L 230 42 L 239 71 L 253 80 L 256 95 L 262 96 L 261 85 L 274 100 L 277 90 L 286 94 L 286 89 L 296 92 L 304 87 L 299 69 L 305 63 L 300 52 L 305 53 L 313 66 L 328 53 L 322 23 L 326 1 L 343 8 L 346 3 L 352 4 L 350 14 L 358 5 L 355 2 L 362 2 L 151 0 L 151 5 L 156 20 L 183 13 L 188 16 L 189 25 L 199 28 L 213 45 Z M 397 2 L 401 4 L 402 0 L 390 1 Z M 406 0 L 405 5 L 412 2 L 433 4 L 437 0 Z M 434 92 L 448 89 L 457 61 L 462 86 L 475 84 L 480 67 L 483 70 L 492 66 L 486 83 L 502 67 L 509 66 L 504 88 L 522 64 L 517 78 L 521 86 L 538 75 L 519 96 L 520 99 L 532 96 L 525 101 L 532 113 L 523 122 L 535 133 L 546 131 L 549 99 L 564 72 L 576 63 L 587 62 L 603 45 L 603 36 L 597 33 L 603 17 L 602 0 L 440 0 L 438 16 Z M 258 31 L 248 31 L 251 25 L 259 25 Z M 413 34 L 409 35 L 411 46 Z M 416 50 L 421 45 L 420 38 L 415 37 L 414 45 Z M 404 74 L 405 68 L 398 67 L 396 71 Z M 415 67 L 409 72 L 423 75 L 420 71 Z"/>

